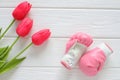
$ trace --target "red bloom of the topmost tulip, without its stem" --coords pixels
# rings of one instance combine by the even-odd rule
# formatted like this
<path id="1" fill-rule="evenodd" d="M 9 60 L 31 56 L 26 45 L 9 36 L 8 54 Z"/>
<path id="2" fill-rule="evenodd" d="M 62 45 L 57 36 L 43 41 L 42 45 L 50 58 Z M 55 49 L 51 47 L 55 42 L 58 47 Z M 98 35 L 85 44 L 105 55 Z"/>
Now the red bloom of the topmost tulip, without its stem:
<path id="1" fill-rule="evenodd" d="M 31 9 L 31 4 L 27 1 L 20 3 L 13 11 L 12 15 L 16 20 L 22 20 Z"/>

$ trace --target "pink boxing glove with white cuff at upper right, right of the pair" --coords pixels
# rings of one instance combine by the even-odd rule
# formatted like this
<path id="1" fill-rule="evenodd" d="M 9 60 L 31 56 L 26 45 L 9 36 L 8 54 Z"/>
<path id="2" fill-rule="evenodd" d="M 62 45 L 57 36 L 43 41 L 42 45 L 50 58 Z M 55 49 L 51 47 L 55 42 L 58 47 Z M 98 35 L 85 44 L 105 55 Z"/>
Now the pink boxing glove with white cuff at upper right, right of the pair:
<path id="1" fill-rule="evenodd" d="M 80 69 L 88 76 L 96 75 L 103 67 L 106 58 L 113 53 L 105 43 L 86 52 L 80 59 Z"/>

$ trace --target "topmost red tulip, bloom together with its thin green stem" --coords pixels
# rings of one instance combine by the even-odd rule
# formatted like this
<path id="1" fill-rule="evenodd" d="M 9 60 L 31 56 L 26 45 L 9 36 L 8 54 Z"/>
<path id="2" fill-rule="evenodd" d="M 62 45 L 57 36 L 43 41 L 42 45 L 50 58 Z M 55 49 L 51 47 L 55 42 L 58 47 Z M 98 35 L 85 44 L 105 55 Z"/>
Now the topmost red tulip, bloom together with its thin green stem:
<path id="1" fill-rule="evenodd" d="M 9 24 L 9 26 L 6 28 L 6 30 L 3 32 L 3 34 L 0 36 L 0 39 L 6 34 L 6 32 L 10 29 L 10 27 L 13 25 L 15 20 L 22 20 L 25 18 L 25 16 L 28 14 L 28 12 L 31 9 L 31 4 L 28 3 L 27 1 L 24 1 L 20 3 L 14 10 L 13 10 L 13 17 L 14 19 L 12 22 Z"/>

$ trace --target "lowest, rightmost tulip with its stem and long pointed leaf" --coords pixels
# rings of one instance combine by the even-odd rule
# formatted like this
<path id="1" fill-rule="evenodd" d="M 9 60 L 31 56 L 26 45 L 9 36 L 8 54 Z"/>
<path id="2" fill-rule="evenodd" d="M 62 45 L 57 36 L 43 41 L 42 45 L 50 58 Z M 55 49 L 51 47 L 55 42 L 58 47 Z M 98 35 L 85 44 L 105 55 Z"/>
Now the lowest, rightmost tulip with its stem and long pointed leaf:
<path id="1" fill-rule="evenodd" d="M 2 68 L 0 69 L 0 74 L 3 74 L 15 68 L 18 64 L 20 64 L 26 58 L 26 57 L 18 58 L 24 51 L 26 51 L 32 44 L 41 45 L 50 37 L 50 34 L 51 32 L 49 29 L 40 30 L 39 32 L 33 34 L 32 42 L 28 46 L 26 46 L 22 51 L 20 51 L 15 57 L 13 57 L 10 61 L 5 62 L 5 65 L 3 65 Z M 17 41 L 17 39 L 15 41 Z"/>

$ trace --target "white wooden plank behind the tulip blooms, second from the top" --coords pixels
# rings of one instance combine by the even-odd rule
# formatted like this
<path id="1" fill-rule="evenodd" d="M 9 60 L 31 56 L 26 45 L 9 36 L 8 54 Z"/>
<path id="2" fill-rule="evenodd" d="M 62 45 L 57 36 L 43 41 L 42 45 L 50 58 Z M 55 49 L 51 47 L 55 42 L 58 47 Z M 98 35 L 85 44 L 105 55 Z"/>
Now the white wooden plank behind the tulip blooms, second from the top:
<path id="1" fill-rule="evenodd" d="M 0 26 L 3 28 L 12 20 L 12 10 L 0 8 Z M 50 28 L 52 37 L 70 37 L 75 32 L 87 32 L 97 38 L 120 38 L 119 14 L 120 10 L 33 8 L 29 17 L 34 19 L 32 34 L 39 29 Z M 16 26 L 8 36 L 15 36 L 13 30 Z"/>

